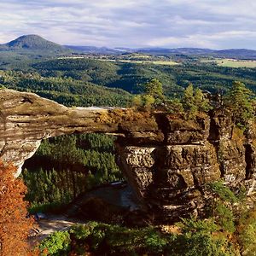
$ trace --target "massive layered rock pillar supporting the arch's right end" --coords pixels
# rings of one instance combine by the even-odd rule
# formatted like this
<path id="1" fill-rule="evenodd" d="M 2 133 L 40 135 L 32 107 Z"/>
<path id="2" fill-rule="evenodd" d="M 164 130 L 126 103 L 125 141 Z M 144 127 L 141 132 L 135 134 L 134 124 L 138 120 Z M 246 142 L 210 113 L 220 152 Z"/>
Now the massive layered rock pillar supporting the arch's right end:
<path id="1" fill-rule="evenodd" d="M 168 114 L 157 119 L 165 136 L 162 143 L 134 146 L 119 138 L 120 166 L 157 221 L 202 213 L 205 185 L 220 178 L 233 188 L 246 185 L 248 194 L 253 193 L 254 124 L 244 136 L 221 110 L 195 120 Z"/>

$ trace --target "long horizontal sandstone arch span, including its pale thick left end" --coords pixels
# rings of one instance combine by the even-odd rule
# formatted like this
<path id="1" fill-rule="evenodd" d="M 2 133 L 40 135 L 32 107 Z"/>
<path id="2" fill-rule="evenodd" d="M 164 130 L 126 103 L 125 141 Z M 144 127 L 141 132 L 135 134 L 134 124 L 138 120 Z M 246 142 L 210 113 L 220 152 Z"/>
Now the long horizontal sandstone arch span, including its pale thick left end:
<path id="1" fill-rule="evenodd" d="M 112 133 L 148 143 L 163 140 L 150 114 L 121 108 L 67 108 L 32 93 L 0 91 L 0 157 L 19 166 L 19 172 L 42 139 L 78 132 Z"/>

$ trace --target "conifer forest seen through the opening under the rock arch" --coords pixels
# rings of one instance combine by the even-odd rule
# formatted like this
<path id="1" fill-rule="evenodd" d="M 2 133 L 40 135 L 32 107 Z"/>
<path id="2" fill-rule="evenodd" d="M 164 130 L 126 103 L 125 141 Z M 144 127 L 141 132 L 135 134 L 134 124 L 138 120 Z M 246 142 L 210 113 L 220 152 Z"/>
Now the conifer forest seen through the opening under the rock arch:
<path id="1" fill-rule="evenodd" d="M 43 141 L 22 172 L 31 211 L 61 207 L 88 189 L 121 179 L 113 140 L 106 135 L 84 134 Z"/>

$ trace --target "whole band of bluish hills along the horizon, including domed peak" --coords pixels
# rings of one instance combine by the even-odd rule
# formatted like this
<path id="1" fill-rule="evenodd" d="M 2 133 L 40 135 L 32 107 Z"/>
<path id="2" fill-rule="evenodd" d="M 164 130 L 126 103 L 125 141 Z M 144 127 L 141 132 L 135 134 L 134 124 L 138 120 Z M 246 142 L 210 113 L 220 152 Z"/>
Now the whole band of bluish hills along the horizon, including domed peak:
<path id="1" fill-rule="evenodd" d="M 122 55 L 125 53 L 141 53 L 147 55 L 187 55 L 212 56 L 219 58 L 252 59 L 256 60 L 256 50 L 253 49 L 201 49 L 201 48 L 108 48 L 96 46 L 61 45 L 50 42 L 38 35 L 25 35 L 7 44 L 0 44 L 0 53 L 15 53 L 22 55 L 71 55 L 73 54 L 102 54 Z M 3 54 L 2 54 L 3 55 Z"/>

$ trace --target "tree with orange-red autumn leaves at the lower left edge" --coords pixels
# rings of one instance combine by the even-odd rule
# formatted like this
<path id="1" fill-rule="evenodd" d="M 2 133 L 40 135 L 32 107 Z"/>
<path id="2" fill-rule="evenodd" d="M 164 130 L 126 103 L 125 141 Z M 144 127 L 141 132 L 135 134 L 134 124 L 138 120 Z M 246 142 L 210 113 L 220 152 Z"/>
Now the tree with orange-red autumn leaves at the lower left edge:
<path id="1" fill-rule="evenodd" d="M 33 219 L 27 218 L 26 185 L 14 177 L 15 171 L 15 166 L 0 161 L 0 256 L 28 254 Z"/>

